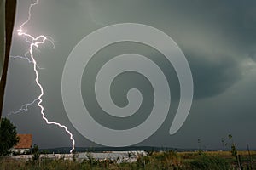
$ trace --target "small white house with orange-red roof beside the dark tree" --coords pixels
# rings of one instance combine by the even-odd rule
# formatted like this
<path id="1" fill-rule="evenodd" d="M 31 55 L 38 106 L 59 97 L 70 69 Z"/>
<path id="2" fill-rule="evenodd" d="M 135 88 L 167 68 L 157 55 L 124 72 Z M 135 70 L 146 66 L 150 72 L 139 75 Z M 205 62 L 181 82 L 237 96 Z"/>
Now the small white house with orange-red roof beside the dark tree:
<path id="1" fill-rule="evenodd" d="M 11 151 L 24 153 L 32 147 L 32 134 L 17 134 L 19 143 Z"/>

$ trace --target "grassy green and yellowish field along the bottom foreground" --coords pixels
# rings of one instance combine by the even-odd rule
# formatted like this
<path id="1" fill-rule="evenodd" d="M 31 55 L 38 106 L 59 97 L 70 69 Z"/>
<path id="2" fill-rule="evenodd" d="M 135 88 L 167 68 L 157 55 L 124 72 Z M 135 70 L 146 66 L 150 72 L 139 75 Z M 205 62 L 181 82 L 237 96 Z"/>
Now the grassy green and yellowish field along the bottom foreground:
<path id="1" fill-rule="evenodd" d="M 242 169 L 256 169 L 256 151 L 238 151 Z M 148 156 L 138 156 L 137 162 L 116 163 L 114 161 L 67 161 L 64 159 L 40 161 L 15 161 L 9 157 L 0 160 L 1 170 L 11 169 L 237 169 L 236 157 L 230 151 L 207 152 L 150 152 Z"/>

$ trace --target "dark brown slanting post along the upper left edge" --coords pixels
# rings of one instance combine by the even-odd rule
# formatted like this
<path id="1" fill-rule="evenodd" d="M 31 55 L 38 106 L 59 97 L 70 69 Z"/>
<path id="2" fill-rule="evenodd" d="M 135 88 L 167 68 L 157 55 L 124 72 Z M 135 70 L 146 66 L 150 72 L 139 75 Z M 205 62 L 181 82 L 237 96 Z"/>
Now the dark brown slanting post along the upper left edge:
<path id="1" fill-rule="evenodd" d="M 15 11 L 16 11 L 16 0 L 6 0 L 5 1 L 5 54 L 3 63 L 3 73 L 0 82 L 0 118 L 3 111 L 3 97 L 4 89 L 6 84 L 6 77 L 9 64 L 9 51 L 12 42 L 12 34 L 15 25 Z"/>

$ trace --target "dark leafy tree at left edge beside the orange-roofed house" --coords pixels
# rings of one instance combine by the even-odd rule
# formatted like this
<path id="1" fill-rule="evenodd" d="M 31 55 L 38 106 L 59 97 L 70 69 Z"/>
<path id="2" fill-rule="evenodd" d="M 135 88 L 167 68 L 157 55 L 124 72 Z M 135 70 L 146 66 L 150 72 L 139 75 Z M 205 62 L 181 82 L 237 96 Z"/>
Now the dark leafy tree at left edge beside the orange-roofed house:
<path id="1" fill-rule="evenodd" d="M 8 155 L 9 149 L 18 142 L 16 127 L 7 118 L 3 118 L 0 127 L 0 156 Z"/>

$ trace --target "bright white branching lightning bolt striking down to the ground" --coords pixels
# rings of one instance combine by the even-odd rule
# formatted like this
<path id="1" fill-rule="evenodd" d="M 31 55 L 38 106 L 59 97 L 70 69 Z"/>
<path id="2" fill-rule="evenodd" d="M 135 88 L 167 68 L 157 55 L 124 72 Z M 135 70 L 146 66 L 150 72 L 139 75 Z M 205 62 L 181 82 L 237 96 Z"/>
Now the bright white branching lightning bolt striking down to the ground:
<path id="1" fill-rule="evenodd" d="M 40 35 L 38 37 L 33 37 L 29 33 L 26 33 L 26 31 L 23 31 L 23 27 L 26 26 L 26 24 L 31 20 L 32 7 L 37 5 L 37 4 L 38 4 L 38 0 L 36 0 L 36 1 L 34 1 L 34 3 L 30 4 L 29 9 L 28 9 L 27 20 L 25 22 L 23 22 L 20 25 L 20 28 L 17 30 L 18 35 L 24 37 L 25 41 L 27 43 L 29 43 L 28 52 L 24 56 L 12 56 L 12 58 L 26 59 L 29 63 L 32 63 L 33 71 L 35 72 L 35 75 L 36 75 L 35 82 L 36 82 L 38 88 L 40 89 L 40 94 L 38 95 L 37 99 L 34 99 L 31 103 L 28 103 L 28 104 L 25 104 L 25 105 L 21 105 L 21 107 L 20 107 L 20 109 L 18 111 L 13 111 L 12 113 L 16 114 L 16 113 L 19 113 L 20 111 L 27 111 L 29 105 L 33 105 L 33 104 L 37 103 L 38 107 L 40 108 L 40 112 L 41 112 L 42 118 L 44 119 L 44 121 L 47 124 L 49 124 L 49 125 L 53 124 L 53 125 L 56 125 L 58 127 L 64 128 L 65 131 L 68 133 L 68 135 L 70 137 L 70 140 L 72 141 L 72 150 L 70 150 L 70 153 L 72 153 L 73 150 L 74 150 L 74 147 L 75 147 L 75 140 L 73 139 L 73 134 L 67 129 L 66 126 L 62 125 L 59 122 L 53 122 L 53 121 L 49 122 L 49 120 L 45 117 L 44 106 L 42 105 L 42 101 L 43 101 L 42 100 L 42 96 L 44 95 L 44 88 L 42 87 L 42 85 L 38 81 L 38 78 L 39 78 L 38 77 L 38 69 L 40 69 L 40 68 L 38 67 L 37 61 L 34 58 L 34 54 L 33 54 L 33 50 L 35 50 L 35 49 L 37 50 L 38 47 L 41 44 L 44 44 L 44 42 L 46 42 L 46 41 L 51 42 L 53 44 L 53 46 L 54 46 L 53 39 L 51 37 L 47 37 L 47 36 L 44 36 L 44 35 Z"/>

